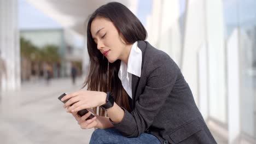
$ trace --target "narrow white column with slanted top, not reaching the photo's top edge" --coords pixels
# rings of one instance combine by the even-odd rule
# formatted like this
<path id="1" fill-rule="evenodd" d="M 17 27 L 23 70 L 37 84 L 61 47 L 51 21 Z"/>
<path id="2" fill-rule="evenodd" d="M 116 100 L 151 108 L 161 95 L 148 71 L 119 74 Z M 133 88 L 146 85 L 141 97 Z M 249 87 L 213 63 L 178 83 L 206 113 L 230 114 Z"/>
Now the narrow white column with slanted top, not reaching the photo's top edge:
<path id="1" fill-rule="evenodd" d="M 237 142 L 241 129 L 239 61 L 238 30 L 235 29 L 227 41 L 229 144 Z"/>

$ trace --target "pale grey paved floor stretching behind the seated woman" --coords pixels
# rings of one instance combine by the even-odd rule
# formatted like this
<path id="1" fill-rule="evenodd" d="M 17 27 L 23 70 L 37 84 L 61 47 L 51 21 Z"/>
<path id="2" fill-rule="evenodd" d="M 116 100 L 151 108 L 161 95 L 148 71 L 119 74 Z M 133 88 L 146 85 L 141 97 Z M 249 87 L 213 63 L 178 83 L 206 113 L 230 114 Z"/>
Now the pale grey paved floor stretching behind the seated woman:
<path id="1" fill-rule="evenodd" d="M 83 78 L 77 83 L 82 84 Z M 94 129 L 82 130 L 57 99 L 62 93 L 79 91 L 70 79 L 22 83 L 15 92 L 2 92 L 0 100 L 0 143 L 89 143 Z M 217 142 L 226 143 L 217 133 Z"/>

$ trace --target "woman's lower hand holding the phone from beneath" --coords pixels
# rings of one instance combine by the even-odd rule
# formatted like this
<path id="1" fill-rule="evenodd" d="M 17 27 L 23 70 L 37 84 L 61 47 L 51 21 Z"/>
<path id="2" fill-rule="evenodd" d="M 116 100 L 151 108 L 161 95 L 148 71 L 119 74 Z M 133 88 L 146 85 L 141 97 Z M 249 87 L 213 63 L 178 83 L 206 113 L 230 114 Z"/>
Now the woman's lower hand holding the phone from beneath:
<path id="1" fill-rule="evenodd" d="M 92 119 L 88 119 L 87 121 L 85 121 L 86 118 L 88 118 L 91 113 L 88 112 L 86 113 L 84 116 L 80 117 L 77 112 L 72 112 L 72 115 L 74 116 L 74 118 L 77 120 L 78 124 L 80 125 L 80 127 L 82 129 L 91 129 L 91 128 L 96 128 L 98 125 L 98 119 L 97 119 L 97 115 L 95 115 L 94 118 Z"/>

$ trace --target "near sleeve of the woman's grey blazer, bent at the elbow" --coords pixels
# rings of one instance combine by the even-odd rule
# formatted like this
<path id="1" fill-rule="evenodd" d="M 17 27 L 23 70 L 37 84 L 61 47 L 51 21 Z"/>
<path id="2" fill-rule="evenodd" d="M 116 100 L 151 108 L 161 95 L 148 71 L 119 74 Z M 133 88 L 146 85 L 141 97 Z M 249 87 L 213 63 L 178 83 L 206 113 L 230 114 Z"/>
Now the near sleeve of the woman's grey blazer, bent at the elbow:
<path id="1" fill-rule="evenodd" d="M 170 57 L 158 61 L 159 63 L 162 65 L 148 75 L 144 91 L 135 103 L 135 109 L 129 113 L 122 107 L 125 112 L 122 121 L 114 123 L 110 120 L 126 137 L 137 137 L 146 131 L 172 91 L 179 68 Z"/>

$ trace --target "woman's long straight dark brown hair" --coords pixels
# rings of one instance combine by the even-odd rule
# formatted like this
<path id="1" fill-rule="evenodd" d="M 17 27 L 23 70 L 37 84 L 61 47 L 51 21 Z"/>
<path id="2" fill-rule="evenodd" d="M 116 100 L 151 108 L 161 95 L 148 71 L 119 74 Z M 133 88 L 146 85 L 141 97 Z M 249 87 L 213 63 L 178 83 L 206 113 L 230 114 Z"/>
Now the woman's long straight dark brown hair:
<path id="1" fill-rule="evenodd" d="M 113 22 L 120 37 L 125 44 L 133 44 L 138 40 L 145 40 L 147 31 L 142 23 L 125 5 L 118 2 L 110 2 L 102 5 L 91 14 L 87 26 L 87 48 L 90 57 L 88 77 L 83 87 L 89 91 L 112 92 L 115 103 L 131 111 L 128 95 L 118 77 L 121 61 L 118 59 L 109 63 L 102 53 L 97 49 L 97 44 L 91 35 L 91 22 L 96 17 L 103 17 Z M 94 108 L 94 110 L 96 110 Z M 98 115 L 104 116 L 104 110 L 100 109 Z"/>

